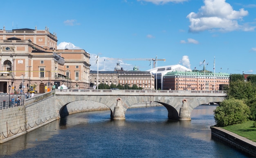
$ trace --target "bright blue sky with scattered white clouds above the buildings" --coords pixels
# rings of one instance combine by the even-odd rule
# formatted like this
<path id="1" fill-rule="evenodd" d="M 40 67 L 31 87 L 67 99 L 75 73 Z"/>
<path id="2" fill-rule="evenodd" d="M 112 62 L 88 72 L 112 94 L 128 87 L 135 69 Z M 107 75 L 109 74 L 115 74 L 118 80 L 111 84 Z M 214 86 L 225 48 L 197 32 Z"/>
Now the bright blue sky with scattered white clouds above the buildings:
<path id="1" fill-rule="evenodd" d="M 6 30 L 49 28 L 59 49 L 84 49 L 91 70 L 180 64 L 216 72 L 256 74 L 256 0 L 2 1 Z M 1 29 L 2 29 L 1 28 Z M 115 60 L 106 60 L 115 58 Z M 105 59 L 105 61 L 104 61 Z M 119 60 L 117 60 L 119 59 Z M 201 65 L 201 66 L 200 66 Z"/>

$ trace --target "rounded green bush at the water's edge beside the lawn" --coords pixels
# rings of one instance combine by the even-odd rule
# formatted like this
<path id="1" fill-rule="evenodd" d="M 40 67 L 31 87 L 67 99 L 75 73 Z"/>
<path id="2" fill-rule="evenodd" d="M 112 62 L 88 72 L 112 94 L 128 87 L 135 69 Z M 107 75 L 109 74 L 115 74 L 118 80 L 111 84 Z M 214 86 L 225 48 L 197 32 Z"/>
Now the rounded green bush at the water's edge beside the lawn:
<path id="1" fill-rule="evenodd" d="M 213 112 L 219 127 L 244 123 L 250 115 L 250 109 L 243 100 L 234 98 L 224 100 Z"/>

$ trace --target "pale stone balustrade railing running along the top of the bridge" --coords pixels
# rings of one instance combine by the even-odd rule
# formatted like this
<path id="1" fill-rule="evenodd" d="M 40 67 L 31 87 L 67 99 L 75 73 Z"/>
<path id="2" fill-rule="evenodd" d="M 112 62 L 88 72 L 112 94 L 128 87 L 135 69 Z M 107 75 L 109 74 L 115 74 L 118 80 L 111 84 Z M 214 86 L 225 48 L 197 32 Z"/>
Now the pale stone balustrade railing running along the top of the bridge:
<path id="1" fill-rule="evenodd" d="M 133 90 L 133 89 L 55 89 L 56 92 L 94 92 L 94 93 L 201 93 L 201 94 L 224 94 L 227 91 L 178 91 L 178 90 Z"/>

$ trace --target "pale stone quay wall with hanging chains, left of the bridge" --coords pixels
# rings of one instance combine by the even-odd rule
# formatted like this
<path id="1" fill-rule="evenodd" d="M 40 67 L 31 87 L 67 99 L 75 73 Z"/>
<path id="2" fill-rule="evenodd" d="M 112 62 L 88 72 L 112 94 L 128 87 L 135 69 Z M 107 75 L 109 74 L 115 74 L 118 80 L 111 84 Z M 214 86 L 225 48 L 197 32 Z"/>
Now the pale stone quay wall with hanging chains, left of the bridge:
<path id="1" fill-rule="evenodd" d="M 24 105 L 0 110 L 0 143 L 7 142 L 59 118 L 54 91 L 26 99 Z"/>

